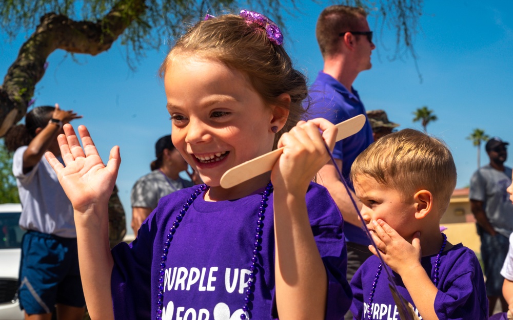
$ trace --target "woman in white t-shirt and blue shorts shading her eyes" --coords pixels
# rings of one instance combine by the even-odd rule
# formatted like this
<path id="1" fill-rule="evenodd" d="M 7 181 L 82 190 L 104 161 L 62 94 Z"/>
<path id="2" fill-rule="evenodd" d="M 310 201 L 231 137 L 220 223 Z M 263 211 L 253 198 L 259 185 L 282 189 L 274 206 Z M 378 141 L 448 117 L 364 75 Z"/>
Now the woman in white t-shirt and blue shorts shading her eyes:
<path id="1" fill-rule="evenodd" d="M 8 150 L 15 151 L 12 172 L 23 205 L 19 225 L 27 230 L 19 270 L 19 302 L 26 319 L 50 319 L 55 305 L 58 319 L 80 320 L 84 313 L 73 208 L 43 159 L 47 151 L 60 157 L 57 135 L 63 123 L 76 118 L 81 116 L 57 104 L 39 106 L 5 137 Z"/>

